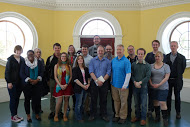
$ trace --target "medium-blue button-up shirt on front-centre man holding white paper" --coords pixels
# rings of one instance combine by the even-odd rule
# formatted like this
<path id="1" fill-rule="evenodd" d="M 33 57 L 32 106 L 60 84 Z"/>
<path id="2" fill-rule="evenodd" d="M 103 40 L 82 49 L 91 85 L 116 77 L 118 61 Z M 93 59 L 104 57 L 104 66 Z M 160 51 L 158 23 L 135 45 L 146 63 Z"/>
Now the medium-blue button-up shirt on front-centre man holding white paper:
<path id="1" fill-rule="evenodd" d="M 111 62 L 103 57 L 102 60 L 98 56 L 94 57 L 89 64 L 89 73 L 94 73 L 96 78 L 104 77 L 106 74 L 111 75 Z"/>

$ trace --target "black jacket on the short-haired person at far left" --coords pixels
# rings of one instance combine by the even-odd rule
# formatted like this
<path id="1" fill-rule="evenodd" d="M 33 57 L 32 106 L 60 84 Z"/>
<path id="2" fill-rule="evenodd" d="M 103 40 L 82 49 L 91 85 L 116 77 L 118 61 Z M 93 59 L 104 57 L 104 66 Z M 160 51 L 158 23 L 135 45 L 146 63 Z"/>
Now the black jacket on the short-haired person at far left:
<path id="1" fill-rule="evenodd" d="M 20 83 L 20 65 L 24 62 L 24 58 L 20 57 L 20 63 L 11 55 L 7 59 L 7 64 L 5 68 L 5 80 L 7 83 L 17 84 Z"/>

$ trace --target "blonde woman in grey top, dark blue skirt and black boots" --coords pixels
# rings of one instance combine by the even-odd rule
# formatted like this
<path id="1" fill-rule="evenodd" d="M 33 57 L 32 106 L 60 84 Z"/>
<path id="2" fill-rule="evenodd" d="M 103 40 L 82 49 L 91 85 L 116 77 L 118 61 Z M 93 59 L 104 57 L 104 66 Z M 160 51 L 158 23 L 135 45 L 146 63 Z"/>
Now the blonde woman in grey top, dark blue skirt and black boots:
<path id="1" fill-rule="evenodd" d="M 164 126 L 168 125 L 167 115 L 167 96 L 168 96 L 168 78 L 170 76 L 170 67 L 163 63 L 163 54 L 158 51 L 155 54 L 155 63 L 151 64 L 151 78 L 149 80 L 153 90 L 153 102 L 156 113 L 155 121 L 160 121 L 160 107 Z"/>

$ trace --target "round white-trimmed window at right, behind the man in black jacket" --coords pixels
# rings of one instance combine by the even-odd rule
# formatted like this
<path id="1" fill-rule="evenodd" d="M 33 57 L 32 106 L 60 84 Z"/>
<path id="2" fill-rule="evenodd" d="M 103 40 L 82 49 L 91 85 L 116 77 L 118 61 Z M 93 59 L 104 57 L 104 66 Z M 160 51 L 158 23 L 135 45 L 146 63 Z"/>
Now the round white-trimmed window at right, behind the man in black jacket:
<path id="1" fill-rule="evenodd" d="M 171 52 L 170 42 L 178 42 L 178 52 L 187 59 L 190 67 L 190 13 L 180 12 L 170 16 L 160 27 L 157 39 L 161 41 L 160 50 L 168 54 Z"/>

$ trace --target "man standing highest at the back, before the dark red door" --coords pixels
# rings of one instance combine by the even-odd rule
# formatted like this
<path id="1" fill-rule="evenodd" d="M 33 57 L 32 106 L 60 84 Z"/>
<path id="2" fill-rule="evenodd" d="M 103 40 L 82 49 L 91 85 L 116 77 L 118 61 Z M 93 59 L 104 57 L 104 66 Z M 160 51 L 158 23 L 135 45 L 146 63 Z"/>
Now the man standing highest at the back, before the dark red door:
<path id="1" fill-rule="evenodd" d="M 91 55 L 92 57 L 97 56 L 97 47 L 100 44 L 100 41 L 100 37 L 98 35 L 95 35 L 93 39 L 94 45 L 89 48 L 89 55 Z"/>

